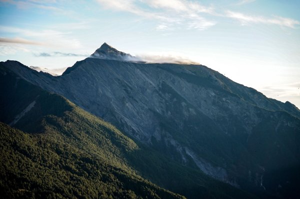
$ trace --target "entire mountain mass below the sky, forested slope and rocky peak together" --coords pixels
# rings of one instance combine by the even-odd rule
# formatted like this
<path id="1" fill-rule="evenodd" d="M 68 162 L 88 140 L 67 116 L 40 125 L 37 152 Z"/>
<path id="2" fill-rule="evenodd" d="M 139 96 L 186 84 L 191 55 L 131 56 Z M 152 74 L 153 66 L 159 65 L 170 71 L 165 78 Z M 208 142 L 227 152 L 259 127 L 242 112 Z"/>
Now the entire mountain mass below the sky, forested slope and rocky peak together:
<path id="1" fill-rule="evenodd" d="M 6 198 L 300 197 L 299 109 L 206 66 L 104 43 L 61 76 L 0 62 L 0 89 Z"/>

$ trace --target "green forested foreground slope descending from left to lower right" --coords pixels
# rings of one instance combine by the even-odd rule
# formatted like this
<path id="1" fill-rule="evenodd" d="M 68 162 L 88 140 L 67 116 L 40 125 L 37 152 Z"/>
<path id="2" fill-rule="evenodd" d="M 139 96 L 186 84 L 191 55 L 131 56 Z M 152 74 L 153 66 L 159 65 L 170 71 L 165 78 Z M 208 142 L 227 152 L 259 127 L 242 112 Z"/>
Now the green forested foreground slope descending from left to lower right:
<path id="1" fill-rule="evenodd" d="M 4 198 L 183 198 L 140 173 L 188 198 L 255 198 L 134 142 L 3 63 L 0 93 Z"/>

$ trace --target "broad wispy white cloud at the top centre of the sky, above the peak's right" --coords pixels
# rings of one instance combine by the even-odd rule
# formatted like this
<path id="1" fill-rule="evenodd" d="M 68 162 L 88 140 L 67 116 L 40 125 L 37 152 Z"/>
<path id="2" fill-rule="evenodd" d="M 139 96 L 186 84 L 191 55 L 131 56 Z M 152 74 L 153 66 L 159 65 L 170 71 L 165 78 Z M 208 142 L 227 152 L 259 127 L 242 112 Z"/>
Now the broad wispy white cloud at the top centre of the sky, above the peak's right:
<path id="1" fill-rule="evenodd" d="M 167 30 L 176 24 L 176 27 L 185 29 L 204 30 L 213 25 L 215 21 L 208 20 L 201 13 L 213 14 L 213 7 L 204 6 L 190 0 L 97 0 L 106 8 L 130 12 L 145 18 L 158 20 L 160 25 L 156 30 Z M 166 26 L 165 23 L 168 25 Z M 163 25 L 161 25 L 163 24 Z M 197 25 L 190 25 L 197 24 Z"/>

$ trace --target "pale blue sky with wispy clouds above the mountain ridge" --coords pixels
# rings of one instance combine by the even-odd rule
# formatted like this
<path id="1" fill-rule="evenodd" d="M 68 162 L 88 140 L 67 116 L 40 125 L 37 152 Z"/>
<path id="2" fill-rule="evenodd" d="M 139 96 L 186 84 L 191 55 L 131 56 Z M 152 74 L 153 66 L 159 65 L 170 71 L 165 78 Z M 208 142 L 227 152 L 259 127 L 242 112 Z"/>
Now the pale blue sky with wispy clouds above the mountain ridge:
<path id="1" fill-rule="evenodd" d="M 300 0 L 0 0 L 0 61 L 61 70 L 106 42 L 194 61 L 300 108 Z"/>

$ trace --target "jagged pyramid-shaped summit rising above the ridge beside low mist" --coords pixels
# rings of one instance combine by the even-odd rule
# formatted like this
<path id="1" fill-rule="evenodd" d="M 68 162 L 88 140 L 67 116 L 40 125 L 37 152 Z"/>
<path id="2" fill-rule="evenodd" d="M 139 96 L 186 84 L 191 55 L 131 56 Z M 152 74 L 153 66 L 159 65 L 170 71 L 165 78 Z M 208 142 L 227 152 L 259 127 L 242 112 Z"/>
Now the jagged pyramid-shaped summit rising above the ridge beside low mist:
<path id="1" fill-rule="evenodd" d="M 112 59 L 119 61 L 138 61 L 136 57 L 118 51 L 117 49 L 111 47 L 107 43 L 103 43 L 94 53 L 90 55 L 91 58 L 98 59 Z"/>

